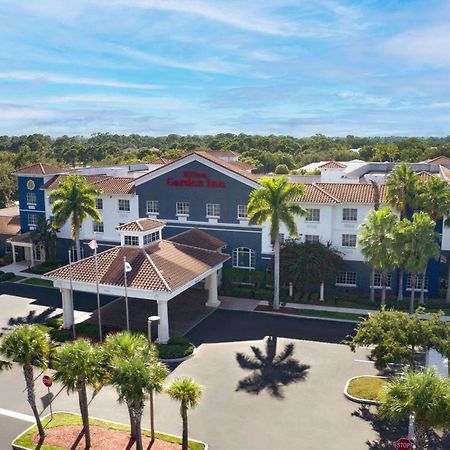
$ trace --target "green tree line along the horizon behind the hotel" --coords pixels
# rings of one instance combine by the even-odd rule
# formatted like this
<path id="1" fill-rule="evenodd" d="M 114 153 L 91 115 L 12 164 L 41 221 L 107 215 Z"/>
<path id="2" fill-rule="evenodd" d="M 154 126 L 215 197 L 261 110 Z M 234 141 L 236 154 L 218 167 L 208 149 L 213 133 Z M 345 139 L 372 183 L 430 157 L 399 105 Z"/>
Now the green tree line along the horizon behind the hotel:
<path id="1" fill-rule="evenodd" d="M 90 137 L 44 134 L 0 136 L 0 207 L 16 195 L 15 169 L 36 162 L 63 167 L 150 162 L 158 157 L 178 158 L 195 150 L 231 150 L 258 172 L 273 172 L 279 165 L 289 171 L 321 160 L 422 161 L 438 155 L 450 156 L 447 137 L 328 137 L 317 134 L 296 138 L 282 135 L 169 134 L 142 136 L 94 133 Z"/>

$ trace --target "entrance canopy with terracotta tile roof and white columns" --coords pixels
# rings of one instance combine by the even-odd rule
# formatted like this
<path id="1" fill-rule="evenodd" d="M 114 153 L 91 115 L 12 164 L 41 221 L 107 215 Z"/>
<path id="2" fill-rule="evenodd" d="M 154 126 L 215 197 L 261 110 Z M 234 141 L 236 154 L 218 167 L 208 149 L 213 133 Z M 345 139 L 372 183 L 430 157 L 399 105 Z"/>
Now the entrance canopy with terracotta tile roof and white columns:
<path id="1" fill-rule="evenodd" d="M 140 222 L 140 228 L 149 231 L 152 229 L 151 224 L 143 223 L 149 220 L 130 222 L 119 227 L 118 231 L 135 229 L 133 224 L 136 222 Z M 181 292 L 199 281 L 206 280 L 206 305 L 217 307 L 220 304 L 217 296 L 217 273 L 229 259 L 229 255 L 220 252 L 224 243 L 204 231 L 192 229 L 182 233 L 180 241 L 183 243 L 177 242 L 177 237 L 174 236 L 170 240 L 158 239 L 142 246 L 121 245 L 97 256 L 100 294 L 120 297 L 125 293 L 126 258 L 131 266 L 131 270 L 127 272 L 128 296 L 157 302 L 160 316 L 158 340 L 161 343 L 169 339 L 167 303 Z M 73 323 L 70 284 L 72 282 L 73 289 L 77 291 L 96 292 L 95 257 L 60 267 L 45 276 L 61 289 L 64 327 L 69 328 Z"/>

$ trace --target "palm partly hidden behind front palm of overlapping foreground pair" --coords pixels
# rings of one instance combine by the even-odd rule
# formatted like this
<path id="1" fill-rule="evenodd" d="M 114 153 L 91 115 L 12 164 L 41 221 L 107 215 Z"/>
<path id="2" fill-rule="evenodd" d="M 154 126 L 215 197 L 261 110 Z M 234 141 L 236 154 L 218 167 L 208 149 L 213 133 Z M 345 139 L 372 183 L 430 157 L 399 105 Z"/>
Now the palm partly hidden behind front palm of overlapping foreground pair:
<path id="1" fill-rule="evenodd" d="M 116 360 L 127 360 L 137 356 L 144 356 L 149 362 L 156 360 L 155 350 L 149 346 L 145 336 L 143 334 L 130 333 L 129 331 L 108 335 L 103 344 L 103 350 L 110 376 L 112 376 L 112 367 Z M 130 418 L 131 438 L 137 439 L 135 415 L 130 406 L 128 406 L 128 415 Z"/>

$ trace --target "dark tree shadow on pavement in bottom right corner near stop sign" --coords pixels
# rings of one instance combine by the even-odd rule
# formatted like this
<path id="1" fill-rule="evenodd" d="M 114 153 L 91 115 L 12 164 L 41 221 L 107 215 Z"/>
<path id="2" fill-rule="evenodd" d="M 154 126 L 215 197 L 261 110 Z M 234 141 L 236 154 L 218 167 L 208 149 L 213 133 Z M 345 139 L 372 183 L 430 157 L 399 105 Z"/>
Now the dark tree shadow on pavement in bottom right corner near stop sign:
<path id="1" fill-rule="evenodd" d="M 372 430 L 379 438 L 373 441 L 366 441 L 369 450 L 392 450 L 398 439 L 408 436 L 408 420 L 402 420 L 394 423 L 381 419 L 374 408 L 361 406 L 352 413 L 352 416 L 358 417 L 369 422 Z M 431 431 L 428 435 L 428 450 L 446 450 L 450 448 L 450 433 L 445 432 L 438 435 Z"/>

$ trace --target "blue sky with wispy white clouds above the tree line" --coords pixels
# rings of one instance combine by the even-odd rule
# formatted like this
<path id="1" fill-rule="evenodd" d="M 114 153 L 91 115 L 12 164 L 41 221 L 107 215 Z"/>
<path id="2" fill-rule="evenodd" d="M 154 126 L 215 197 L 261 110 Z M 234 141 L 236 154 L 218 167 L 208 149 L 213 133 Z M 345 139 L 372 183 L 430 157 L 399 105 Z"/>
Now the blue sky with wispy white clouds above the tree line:
<path id="1" fill-rule="evenodd" d="M 0 134 L 450 134 L 450 2 L 0 0 Z"/>

